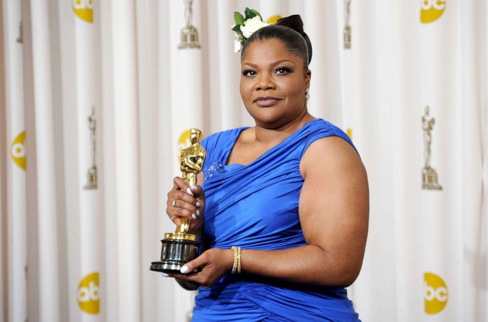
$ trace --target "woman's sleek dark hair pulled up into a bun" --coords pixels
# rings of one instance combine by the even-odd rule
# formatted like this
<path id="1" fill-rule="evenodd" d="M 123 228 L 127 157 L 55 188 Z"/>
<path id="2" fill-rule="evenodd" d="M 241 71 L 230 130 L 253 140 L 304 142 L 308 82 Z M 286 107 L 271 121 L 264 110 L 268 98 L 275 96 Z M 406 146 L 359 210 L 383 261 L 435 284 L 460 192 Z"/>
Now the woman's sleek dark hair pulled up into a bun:
<path id="1" fill-rule="evenodd" d="M 300 15 L 278 19 L 275 25 L 262 27 L 254 32 L 244 44 L 241 52 L 241 59 L 247 53 L 249 45 L 256 40 L 280 40 L 288 52 L 301 57 L 304 61 L 304 69 L 308 69 L 308 64 L 312 60 L 312 44 L 304 32 L 304 23 Z"/>

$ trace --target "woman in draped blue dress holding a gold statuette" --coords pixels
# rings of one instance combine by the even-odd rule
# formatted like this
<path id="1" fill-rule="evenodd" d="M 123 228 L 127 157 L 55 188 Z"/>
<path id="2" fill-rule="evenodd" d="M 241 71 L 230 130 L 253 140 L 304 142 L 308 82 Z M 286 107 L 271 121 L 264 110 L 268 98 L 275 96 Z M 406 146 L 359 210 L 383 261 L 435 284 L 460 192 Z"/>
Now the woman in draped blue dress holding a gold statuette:
<path id="1" fill-rule="evenodd" d="M 174 179 L 168 215 L 196 217 L 209 247 L 171 274 L 199 287 L 193 321 L 359 321 L 344 287 L 363 262 L 366 171 L 349 137 L 308 113 L 310 59 L 300 16 L 254 32 L 240 89 L 255 126 L 202 141 L 201 186 Z"/>

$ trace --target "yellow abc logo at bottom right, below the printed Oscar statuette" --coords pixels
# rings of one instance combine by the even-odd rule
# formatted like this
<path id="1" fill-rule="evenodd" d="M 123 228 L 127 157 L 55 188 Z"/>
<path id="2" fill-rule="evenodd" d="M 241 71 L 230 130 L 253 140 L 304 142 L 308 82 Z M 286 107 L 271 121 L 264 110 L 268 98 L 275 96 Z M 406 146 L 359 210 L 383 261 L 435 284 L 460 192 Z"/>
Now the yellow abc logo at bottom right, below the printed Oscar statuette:
<path id="1" fill-rule="evenodd" d="M 446 283 L 434 273 L 424 273 L 424 298 L 427 314 L 436 314 L 447 304 Z"/>

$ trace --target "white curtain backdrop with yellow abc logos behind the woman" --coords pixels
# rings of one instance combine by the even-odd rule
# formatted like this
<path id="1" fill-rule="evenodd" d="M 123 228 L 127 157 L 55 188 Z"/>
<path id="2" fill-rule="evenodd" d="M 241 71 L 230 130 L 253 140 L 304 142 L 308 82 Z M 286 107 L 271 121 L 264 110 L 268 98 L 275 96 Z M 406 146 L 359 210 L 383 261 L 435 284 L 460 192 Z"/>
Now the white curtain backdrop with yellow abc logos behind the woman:
<path id="1" fill-rule="evenodd" d="M 253 125 L 230 30 L 246 6 L 302 16 L 309 110 L 365 163 L 360 318 L 488 322 L 487 0 L 351 0 L 350 49 L 346 0 L 194 0 L 185 50 L 183 0 L 0 3 L 0 322 L 186 321 L 193 294 L 149 267 L 187 130 Z M 423 117 L 442 189 L 422 188 Z"/>

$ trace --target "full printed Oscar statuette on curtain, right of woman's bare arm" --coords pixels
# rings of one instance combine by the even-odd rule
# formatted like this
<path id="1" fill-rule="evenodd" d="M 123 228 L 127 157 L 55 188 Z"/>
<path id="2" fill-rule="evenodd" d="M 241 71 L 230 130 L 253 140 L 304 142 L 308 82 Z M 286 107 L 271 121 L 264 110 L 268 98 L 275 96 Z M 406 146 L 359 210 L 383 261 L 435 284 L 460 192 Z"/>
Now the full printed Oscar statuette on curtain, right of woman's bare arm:
<path id="1" fill-rule="evenodd" d="M 434 118 L 429 118 L 429 107 L 426 106 L 425 114 L 422 116 L 422 129 L 424 130 L 424 168 L 422 169 L 422 188 L 429 190 L 442 190 L 437 183 L 437 172 L 430 166 L 430 146 L 432 144 L 432 128 Z"/>

